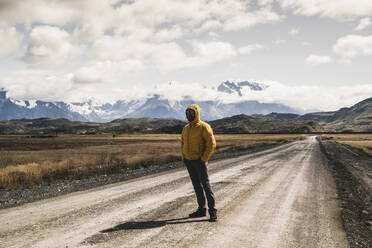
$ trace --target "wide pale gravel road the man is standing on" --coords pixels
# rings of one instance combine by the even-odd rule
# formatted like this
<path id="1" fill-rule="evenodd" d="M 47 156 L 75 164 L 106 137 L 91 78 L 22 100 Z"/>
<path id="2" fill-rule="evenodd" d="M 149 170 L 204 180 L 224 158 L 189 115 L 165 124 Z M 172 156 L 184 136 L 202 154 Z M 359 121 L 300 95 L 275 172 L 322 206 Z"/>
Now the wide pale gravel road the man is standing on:
<path id="1" fill-rule="evenodd" d="M 315 137 L 208 169 L 217 223 L 181 168 L 0 210 L 0 247 L 348 247 Z"/>

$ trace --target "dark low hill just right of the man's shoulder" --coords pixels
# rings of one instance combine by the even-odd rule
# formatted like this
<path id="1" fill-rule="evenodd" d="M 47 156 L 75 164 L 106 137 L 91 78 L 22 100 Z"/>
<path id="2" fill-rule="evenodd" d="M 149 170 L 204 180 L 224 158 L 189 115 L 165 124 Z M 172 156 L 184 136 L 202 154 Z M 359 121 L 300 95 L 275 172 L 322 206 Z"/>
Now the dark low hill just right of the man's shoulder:
<path id="1" fill-rule="evenodd" d="M 236 115 L 210 121 L 215 133 L 311 133 L 324 129 L 314 121 L 296 119 L 263 119 Z"/>

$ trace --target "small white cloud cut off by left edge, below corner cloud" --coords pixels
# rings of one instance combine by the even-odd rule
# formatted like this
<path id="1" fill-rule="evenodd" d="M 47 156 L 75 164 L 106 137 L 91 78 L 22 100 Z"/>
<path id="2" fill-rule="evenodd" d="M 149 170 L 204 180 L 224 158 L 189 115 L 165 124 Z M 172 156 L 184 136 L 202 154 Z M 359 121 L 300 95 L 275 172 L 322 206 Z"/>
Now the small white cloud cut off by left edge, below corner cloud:
<path id="1" fill-rule="evenodd" d="M 21 44 L 23 35 L 18 33 L 14 27 L 0 27 L 0 58 L 16 52 Z"/>

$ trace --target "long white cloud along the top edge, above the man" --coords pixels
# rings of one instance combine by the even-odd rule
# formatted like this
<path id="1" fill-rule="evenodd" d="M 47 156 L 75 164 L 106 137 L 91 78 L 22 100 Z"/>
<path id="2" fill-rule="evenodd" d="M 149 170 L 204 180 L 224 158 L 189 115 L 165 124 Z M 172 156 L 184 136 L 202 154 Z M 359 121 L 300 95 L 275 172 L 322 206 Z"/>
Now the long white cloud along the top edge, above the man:
<path id="1" fill-rule="evenodd" d="M 112 25 L 120 34 L 133 33 L 144 27 L 155 30 L 170 23 L 186 27 L 185 32 L 208 32 L 218 28 L 237 31 L 281 20 L 270 6 L 252 9 L 250 4 L 250 1 L 241 0 L 159 0 L 153 3 L 138 0 L 121 5 L 115 11 Z"/>

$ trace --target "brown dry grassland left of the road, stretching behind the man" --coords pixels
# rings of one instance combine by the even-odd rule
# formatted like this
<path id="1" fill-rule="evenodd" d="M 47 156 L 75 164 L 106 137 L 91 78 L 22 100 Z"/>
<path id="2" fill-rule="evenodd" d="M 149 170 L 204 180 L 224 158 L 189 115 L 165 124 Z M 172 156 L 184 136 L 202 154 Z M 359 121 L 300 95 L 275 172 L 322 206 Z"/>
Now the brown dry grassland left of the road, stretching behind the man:
<path id="1" fill-rule="evenodd" d="M 301 134 L 216 135 L 215 153 L 279 145 Z M 32 188 L 180 160 L 180 135 L 0 136 L 0 189 Z"/>

